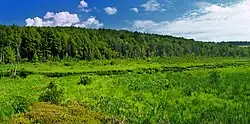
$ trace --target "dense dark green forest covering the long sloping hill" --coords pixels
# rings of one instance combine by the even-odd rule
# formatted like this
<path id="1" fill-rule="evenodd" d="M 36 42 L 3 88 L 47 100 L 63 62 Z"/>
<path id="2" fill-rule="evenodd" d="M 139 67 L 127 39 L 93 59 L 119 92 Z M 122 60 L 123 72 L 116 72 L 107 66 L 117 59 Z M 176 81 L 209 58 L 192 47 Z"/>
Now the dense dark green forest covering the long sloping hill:
<path id="1" fill-rule="evenodd" d="M 250 55 L 232 44 L 144 34 L 125 30 L 75 27 L 0 26 L 0 62 Z"/>

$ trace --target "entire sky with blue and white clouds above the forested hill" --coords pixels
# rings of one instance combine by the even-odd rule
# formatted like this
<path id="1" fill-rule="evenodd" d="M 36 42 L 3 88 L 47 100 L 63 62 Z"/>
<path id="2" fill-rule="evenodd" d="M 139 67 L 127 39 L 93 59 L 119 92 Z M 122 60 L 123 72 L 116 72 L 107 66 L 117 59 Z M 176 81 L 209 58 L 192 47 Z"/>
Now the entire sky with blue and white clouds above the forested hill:
<path id="1" fill-rule="evenodd" d="M 0 24 L 250 41 L 250 0 L 1 0 Z"/>

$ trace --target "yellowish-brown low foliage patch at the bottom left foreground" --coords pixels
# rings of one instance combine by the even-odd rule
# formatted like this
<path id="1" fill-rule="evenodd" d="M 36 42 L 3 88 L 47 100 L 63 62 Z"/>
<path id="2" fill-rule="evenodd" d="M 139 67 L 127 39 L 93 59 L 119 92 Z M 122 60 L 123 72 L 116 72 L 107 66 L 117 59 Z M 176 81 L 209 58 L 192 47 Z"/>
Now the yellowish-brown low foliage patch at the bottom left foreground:
<path id="1" fill-rule="evenodd" d="M 95 113 L 79 104 L 58 106 L 49 103 L 34 103 L 29 112 L 19 115 L 11 120 L 13 124 L 40 123 L 40 124 L 98 124 L 117 123 L 123 121 L 105 117 L 101 113 Z"/>

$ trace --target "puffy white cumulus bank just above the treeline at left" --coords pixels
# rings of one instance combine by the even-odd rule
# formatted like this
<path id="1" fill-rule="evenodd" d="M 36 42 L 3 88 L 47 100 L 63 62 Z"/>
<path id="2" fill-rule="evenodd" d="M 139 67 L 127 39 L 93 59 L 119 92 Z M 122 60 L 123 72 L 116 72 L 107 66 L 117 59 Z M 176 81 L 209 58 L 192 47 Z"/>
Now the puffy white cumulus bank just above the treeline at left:
<path id="1" fill-rule="evenodd" d="M 43 19 L 35 17 L 33 19 L 28 18 L 25 20 L 26 26 L 76 26 L 85 28 L 100 28 L 103 27 L 103 23 L 100 23 L 95 17 L 90 17 L 86 21 L 80 21 L 77 14 L 71 14 L 69 12 L 47 12 Z"/>

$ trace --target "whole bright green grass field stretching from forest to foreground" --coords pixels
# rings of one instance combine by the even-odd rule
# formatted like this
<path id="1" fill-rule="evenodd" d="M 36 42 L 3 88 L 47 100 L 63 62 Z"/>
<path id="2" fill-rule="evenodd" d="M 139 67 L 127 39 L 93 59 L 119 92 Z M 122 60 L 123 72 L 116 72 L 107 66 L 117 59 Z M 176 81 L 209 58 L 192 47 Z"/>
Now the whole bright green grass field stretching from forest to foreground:
<path id="1" fill-rule="evenodd" d="M 16 96 L 35 104 L 35 109 L 27 113 L 39 112 L 37 106 L 44 105 L 38 103 L 39 96 L 50 82 L 55 82 L 64 90 L 64 99 L 56 107 L 62 112 L 69 111 L 67 106 L 76 102 L 88 106 L 90 115 L 102 113 L 106 118 L 122 120 L 119 123 L 250 123 L 249 60 L 172 58 L 23 63 L 17 70 L 32 72 L 27 77 L 0 79 L 0 120 L 14 123 L 10 120 L 20 121 L 29 115 L 15 114 L 12 101 Z M 13 67 L 0 66 L 2 72 Z M 69 72 L 74 73 L 61 75 Z M 79 85 L 82 76 L 90 78 L 90 83 Z M 96 116 L 101 115 L 69 117 L 89 118 L 86 122 L 97 123 Z"/>

